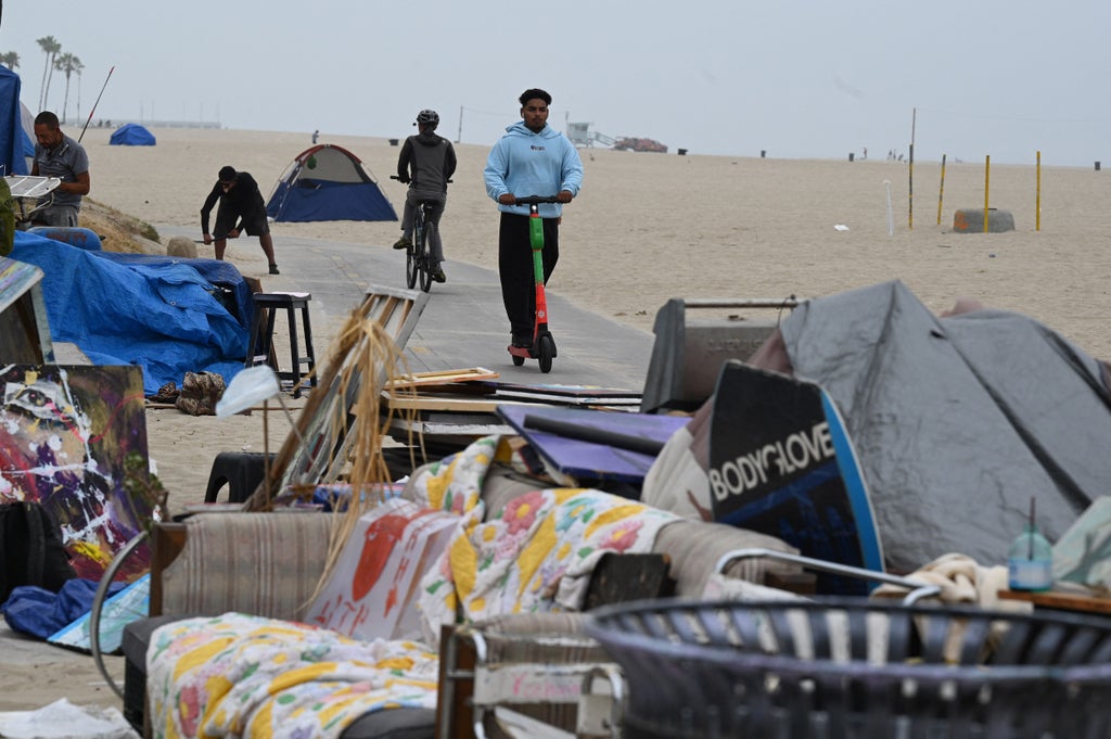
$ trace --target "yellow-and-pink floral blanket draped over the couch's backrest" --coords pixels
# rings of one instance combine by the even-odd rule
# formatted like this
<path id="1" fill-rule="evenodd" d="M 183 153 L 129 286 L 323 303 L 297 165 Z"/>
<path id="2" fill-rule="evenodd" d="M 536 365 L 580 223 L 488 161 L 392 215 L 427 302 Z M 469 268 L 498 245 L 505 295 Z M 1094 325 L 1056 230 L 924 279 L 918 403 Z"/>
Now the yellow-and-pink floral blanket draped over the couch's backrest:
<path id="1" fill-rule="evenodd" d="M 651 551 L 660 528 L 679 520 L 589 488 L 533 490 L 487 518 L 480 492 L 497 450 L 497 437 L 481 439 L 413 480 L 421 502 L 462 515 L 447 551 L 421 580 L 430 643 L 441 623 L 579 610 L 602 555 Z"/>

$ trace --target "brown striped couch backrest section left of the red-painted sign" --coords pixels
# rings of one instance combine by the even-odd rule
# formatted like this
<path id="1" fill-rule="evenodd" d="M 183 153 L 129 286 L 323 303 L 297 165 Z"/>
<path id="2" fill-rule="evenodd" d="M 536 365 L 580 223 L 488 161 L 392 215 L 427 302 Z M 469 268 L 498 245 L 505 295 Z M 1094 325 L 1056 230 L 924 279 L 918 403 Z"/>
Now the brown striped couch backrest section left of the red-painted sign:
<path id="1" fill-rule="evenodd" d="M 200 513 L 162 575 L 162 612 L 297 620 L 324 569 L 328 513 Z"/>

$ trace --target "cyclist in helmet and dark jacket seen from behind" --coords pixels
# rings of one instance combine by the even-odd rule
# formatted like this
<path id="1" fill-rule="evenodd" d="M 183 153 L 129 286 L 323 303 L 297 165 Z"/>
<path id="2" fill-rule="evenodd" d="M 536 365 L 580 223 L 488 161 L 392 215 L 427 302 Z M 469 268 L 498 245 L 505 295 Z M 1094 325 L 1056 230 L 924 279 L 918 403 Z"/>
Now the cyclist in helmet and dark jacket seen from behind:
<path id="1" fill-rule="evenodd" d="M 440 239 L 440 217 L 448 204 L 448 181 L 456 173 L 456 149 L 451 141 L 436 132 L 440 124 L 440 116 L 434 110 L 422 110 L 417 113 L 413 126 L 420 131 L 406 139 L 398 157 L 398 180 L 409 184 L 406 194 L 406 207 L 401 216 L 401 238 L 393 244 L 394 249 L 408 249 L 412 246 L 413 211 L 421 200 L 432 201 L 428 220 L 433 226 L 429 238 L 429 251 L 432 259 L 432 279 L 437 282 L 447 281 L 443 273 L 443 241 Z"/>

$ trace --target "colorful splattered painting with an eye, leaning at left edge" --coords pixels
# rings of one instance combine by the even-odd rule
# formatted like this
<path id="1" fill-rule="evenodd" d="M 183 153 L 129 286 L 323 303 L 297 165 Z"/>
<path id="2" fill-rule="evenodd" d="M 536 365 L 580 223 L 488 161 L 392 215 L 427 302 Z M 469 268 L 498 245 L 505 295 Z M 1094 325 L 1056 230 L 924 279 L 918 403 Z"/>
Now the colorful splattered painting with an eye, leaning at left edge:
<path id="1" fill-rule="evenodd" d="M 0 502 L 34 500 L 62 528 L 79 577 L 100 579 L 151 520 L 124 489 L 129 455 L 148 459 L 142 370 L 116 366 L 0 364 Z M 130 472 L 146 487 L 149 471 Z M 137 553 L 118 577 L 142 573 Z"/>

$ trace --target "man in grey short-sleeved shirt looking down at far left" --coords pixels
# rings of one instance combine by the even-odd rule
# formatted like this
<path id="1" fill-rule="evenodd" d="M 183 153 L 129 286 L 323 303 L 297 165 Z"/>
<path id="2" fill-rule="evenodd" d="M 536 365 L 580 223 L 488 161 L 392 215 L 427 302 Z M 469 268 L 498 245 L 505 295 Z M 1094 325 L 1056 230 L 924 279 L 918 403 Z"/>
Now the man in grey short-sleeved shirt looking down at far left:
<path id="1" fill-rule="evenodd" d="M 84 148 L 62 133 L 58 116 L 44 110 L 34 117 L 32 177 L 57 177 L 62 181 L 51 193 L 50 207 L 31 217 L 34 226 L 77 226 L 81 198 L 89 194 L 89 156 Z M 48 196 L 48 199 L 51 197 Z"/>

